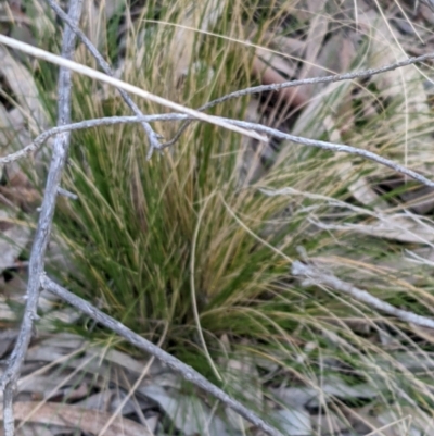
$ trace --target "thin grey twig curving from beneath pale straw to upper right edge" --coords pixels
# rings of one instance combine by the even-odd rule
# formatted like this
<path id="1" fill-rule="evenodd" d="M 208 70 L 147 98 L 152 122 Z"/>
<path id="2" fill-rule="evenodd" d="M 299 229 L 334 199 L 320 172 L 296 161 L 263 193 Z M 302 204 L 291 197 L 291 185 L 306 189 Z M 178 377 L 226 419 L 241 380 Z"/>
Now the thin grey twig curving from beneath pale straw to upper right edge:
<path id="1" fill-rule="evenodd" d="M 305 86 L 305 85 L 315 85 L 315 84 L 330 84 L 334 82 L 342 82 L 342 80 L 353 80 L 355 78 L 366 78 L 370 76 L 374 76 L 378 74 L 386 73 L 388 71 L 394 71 L 400 68 L 403 66 L 412 65 L 419 62 L 425 62 L 434 59 L 434 53 L 426 53 L 420 57 L 408 58 L 404 61 L 396 62 L 393 64 L 381 66 L 380 68 L 369 68 L 362 71 L 356 71 L 353 73 L 344 73 L 344 74 L 333 74 L 330 76 L 324 77 L 309 77 L 299 80 L 291 80 L 284 82 L 282 84 L 271 84 L 271 85 L 259 85 L 259 86 L 252 86 L 250 88 L 241 89 L 226 96 L 222 96 L 216 100 L 209 101 L 203 105 L 201 105 L 197 111 L 205 111 L 209 108 L 214 108 L 219 103 L 224 103 L 225 101 L 232 100 L 235 98 L 244 97 L 244 96 L 253 96 L 255 94 L 266 92 L 266 91 L 279 91 L 281 89 L 293 88 L 296 86 Z M 170 147 L 173 146 L 183 134 L 186 128 L 190 125 L 193 120 L 187 121 L 179 130 L 175 134 L 175 136 L 167 142 L 163 144 L 163 147 Z"/>

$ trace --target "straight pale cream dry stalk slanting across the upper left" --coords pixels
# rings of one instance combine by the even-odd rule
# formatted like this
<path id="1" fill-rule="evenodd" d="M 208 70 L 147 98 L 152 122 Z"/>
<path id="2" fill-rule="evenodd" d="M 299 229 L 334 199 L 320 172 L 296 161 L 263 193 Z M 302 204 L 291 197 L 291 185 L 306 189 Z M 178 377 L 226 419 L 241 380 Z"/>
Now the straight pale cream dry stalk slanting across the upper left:
<path id="1" fill-rule="evenodd" d="M 202 112 L 197 112 L 194 109 L 190 109 L 190 108 L 187 108 L 187 107 L 184 107 L 182 104 L 175 103 L 174 101 L 170 101 L 170 100 L 167 100 L 167 99 L 165 99 L 163 97 L 156 96 L 155 94 L 149 92 L 149 91 L 146 91 L 144 89 L 140 89 L 137 86 L 130 85 L 130 84 L 128 84 L 126 82 L 123 82 L 123 80 L 119 80 L 119 79 L 117 79 L 115 77 L 107 76 L 106 74 L 101 73 L 99 71 L 95 71 L 93 68 L 90 68 L 89 66 L 81 65 L 81 64 L 79 64 L 77 62 L 73 62 L 71 60 L 61 58 L 61 57 L 59 57 L 56 54 L 50 53 L 50 52 L 48 52 L 46 50 L 38 49 L 37 47 L 30 46 L 30 45 L 25 43 L 25 42 L 21 42 L 21 41 L 16 40 L 16 39 L 10 38 L 8 36 L 1 35 L 1 34 L 0 34 L 0 43 L 4 43 L 4 46 L 11 47 L 11 48 L 16 49 L 16 50 L 20 50 L 23 53 L 33 55 L 35 58 L 42 59 L 43 61 L 51 62 L 54 65 L 66 67 L 66 68 L 71 70 L 71 71 L 79 73 L 79 74 L 81 74 L 84 76 L 88 76 L 88 77 L 91 77 L 93 79 L 106 83 L 106 84 L 112 85 L 112 86 L 114 86 L 116 88 L 125 89 L 128 92 L 135 94 L 135 95 L 137 95 L 139 97 L 142 97 L 144 99 L 153 101 L 154 103 L 165 105 L 165 107 L 170 108 L 170 109 L 173 109 L 175 111 L 178 111 L 180 113 L 186 113 L 186 114 L 188 114 L 188 115 L 190 115 L 192 117 L 196 117 L 196 119 L 205 121 L 207 123 L 210 123 L 210 124 L 227 128 L 229 130 L 233 130 L 233 132 L 237 132 L 239 134 L 242 134 L 242 135 L 245 135 L 245 136 L 250 136 L 250 137 L 252 137 L 254 139 L 257 139 L 259 141 L 267 142 L 267 138 L 258 135 L 257 133 L 248 132 L 248 130 L 245 130 L 245 129 L 240 128 L 238 126 L 226 124 L 226 123 L 221 122 L 218 116 L 206 115 L 206 114 L 204 114 Z"/>

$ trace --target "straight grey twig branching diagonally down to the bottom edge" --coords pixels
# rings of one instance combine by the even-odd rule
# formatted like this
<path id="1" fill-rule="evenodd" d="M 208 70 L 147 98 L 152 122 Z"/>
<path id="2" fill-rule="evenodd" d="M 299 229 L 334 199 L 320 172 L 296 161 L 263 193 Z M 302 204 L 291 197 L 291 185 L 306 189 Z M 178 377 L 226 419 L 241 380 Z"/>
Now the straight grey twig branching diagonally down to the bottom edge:
<path id="1" fill-rule="evenodd" d="M 56 295 L 58 297 L 62 298 L 62 300 L 68 302 L 69 304 L 80 310 L 82 313 L 86 313 L 87 315 L 91 316 L 92 320 L 98 321 L 105 327 L 117 333 L 119 336 L 125 338 L 129 344 L 132 344 L 133 346 L 140 348 L 141 350 L 159 359 L 162 362 L 166 363 L 173 370 L 180 373 L 188 382 L 193 383 L 195 386 L 200 387 L 201 389 L 210 394 L 213 397 L 220 400 L 226 406 L 230 407 L 232 410 L 238 412 L 241 416 L 243 416 L 245 420 L 254 424 L 256 427 L 260 428 L 267 435 L 280 436 L 280 433 L 276 428 L 268 425 L 264 420 L 261 420 L 258 415 L 256 415 L 256 413 L 252 412 L 243 404 L 241 404 L 239 401 L 229 397 L 217 386 L 209 383 L 203 375 L 194 371 L 191 366 L 174 358 L 173 356 L 162 350 L 161 348 L 150 342 L 149 340 L 144 339 L 143 337 L 137 335 L 135 332 L 127 328 L 120 322 L 101 312 L 94 306 L 90 304 L 80 297 L 77 297 L 76 295 L 69 292 L 67 289 L 58 285 L 46 275 L 41 279 L 41 285 L 43 289 L 49 290 L 50 292 Z"/>

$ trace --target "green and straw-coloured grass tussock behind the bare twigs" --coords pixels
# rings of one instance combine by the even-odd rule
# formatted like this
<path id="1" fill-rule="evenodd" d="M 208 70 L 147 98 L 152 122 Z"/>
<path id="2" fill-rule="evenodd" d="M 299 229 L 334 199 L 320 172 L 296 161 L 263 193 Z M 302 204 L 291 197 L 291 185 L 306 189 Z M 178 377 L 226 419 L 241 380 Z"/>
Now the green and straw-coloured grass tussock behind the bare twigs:
<path id="1" fill-rule="evenodd" d="M 301 39 L 314 17 L 330 20 L 331 35 L 356 26 L 333 2 L 314 17 L 298 14 L 298 21 L 289 18 L 291 8 L 303 9 L 296 1 L 209 1 L 194 11 L 187 3 L 148 1 L 133 20 L 123 10 L 108 22 L 98 15 L 93 39 L 123 79 L 191 108 L 255 84 L 255 50 L 242 43 L 246 38 L 268 47 L 285 20 L 281 36 Z M 370 66 L 369 57 L 399 49 L 380 33 L 363 34 L 362 24 L 360 29 L 346 68 Z M 81 47 L 77 55 L 93 64 Z M 310 62 L 319 64 L 319 55 Z M 386 77 L 319 89 L 301 113 L 288 115 L 290 132 L 357 145 L 426 170 L 432 158 L 421 159 L 426 155 L 421 138 L 431 135 L 431 109 L 410 110 L 411 86 L 424 79 L 420 71 L 411 75 L 400 84 Z M 394 97 L 396 86 L 405 88 L 401 100 Z M 144 114 L 164 112 L 137 102 Z M 250 103 L 231 100 L 209 113 L 243 119 Z M 75 77 L 73 111 L 77 121 L 127 113 L 115 91 L 84 77 Z M 180 124 L 153 126 L 170 139 Z M 430 413 L 431 335 L 422 338 L 412 326 L 290 275 L 293 260 L 314 259 L 384 301 L 432 316 L 430 265 L 423 257 L 410 262 L 403 256 L 431 247 L 432 220 L 414 219 L 426 231 L 420 244 L 399 240 L 406 224 L 395 213 L 406 208 L 396 199 L 406 187 L 382 196 L 367 186 L 384 169 L 293 144 L 281 144 L 276 162 L 259 176 L 260 155 L 248 158 L 247 139 L 202 123 L 150 161 L 146 146 L 139 125 L 73 134 L 63 187 L 78 200 L 61 202 L 55 225 L 75 266 L 54 271 L 62 283 L 213 379 L 230 379 L 228 359 L 247 357 L 261 369 L 264 389 L 303 385 L 321 391 L 328 381 L 366 383 L 371 407 L 387 408 L 396 419 L 404 407 Z M 379 237 L 378 222 L 396 238 Z M 74 328 L 82 333 L 85 326 Z M 92 335 L 112 340 L 107 332 Z M 404 357 L 412 363 L 403 363 Z M 248 381 L 248 374 L 238 376 Z M 324 396 L 319 406 L 345 421 L 350 407 L 339 394 L 333 401 Z"/>

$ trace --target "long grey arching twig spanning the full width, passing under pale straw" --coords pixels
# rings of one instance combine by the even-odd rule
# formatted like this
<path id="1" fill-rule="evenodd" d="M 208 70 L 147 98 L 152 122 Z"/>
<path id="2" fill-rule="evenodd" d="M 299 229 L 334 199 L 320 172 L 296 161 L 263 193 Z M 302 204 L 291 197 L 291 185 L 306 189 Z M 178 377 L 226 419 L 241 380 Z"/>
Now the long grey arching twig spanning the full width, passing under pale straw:
<path id="1" fill-rule="evenodd" d="M 82 128 L 90 128 L 90 127 L 97 127 L 97 126 L 102 126 L 102 125 L 140 123 L 143 120 L 145 120 L 146 122 L 153 122 L 153 121 L 180 121 L 180 120 L 187 120 L 187 119 L 189 119 L 188 115 L 177 114 L 177 113 L 146 115 L 146 116 L 142 116 L 142 117 L 110 116 L 110 117 L 105 117 L 105 119 L 86 120 L 86 121 L 81 121 L 79 123 L 53 127 L 52 129 L 47 130 L 43 134 L 39 135 L 31 144 L 26 146 L 24 149 L 18 150 L 9 155 L 5 155 L 3 158 L 0 158 L 0 164 L 13 162 L 21 158 L 24 158 L 25 155 L 30 154 L 31 152 L 36 151 L 39 147 L 41 147 L 41 145 L 50 136 L 53 136 L 53 135 L 56 135 L 56 134 L 60 134 L 63 132 L 78 130 L 78 129 L 82 129 Z M 324 150 L 330 150 L 330 151 L 360 155 L 365 159 L 368 159 L 373 162 L 380 163 L 382 165 L 388 166 L 390 169 L 396 171 L 397 173 L 408 175 L 409 177 L 413 178 L 414 180 L 420 182 L 421 184 L 423 184 L 425 186 L 434 187 L 434 182 L 424 177 L 422 174 L 419 174 L 416 171 L 412 171 L 403 165 L 399 165 L 398 163 L 391 161 L 390 159 L 382 158 L 381 155 L 375 154 L 368 150 L 359 149 L 359 148 L 352 147 L 352 146 L 346 146 L 344 144 L 333 144 L 333 142 L 327 142 L 327 141 L 321 141 L 321 140 L 317 140 L 317 139 L 304 138 L 301 136 L 294 136 L 294 135 L 290 135 L 290 134 L 280 132 L 276 128 L 265 126 L 263 124 L 248 123 L 248 122 L 244 122 L 244 121 L 238 121 L 238 120 L 231 120 L 231 119 L 225 119 L 225 117 L 219 117 L 219 120 L 221 120 L 226 124 L 233 124 L 233 125 L 237 125 L 240 127 L 260 132 L 260 133 L 267 134 L 269 136 L 275 136 L 277 138 L 286 139 L 286 140 L 295 142 L 295 144 L 301 144 L 301 145 L 308 146 L 308 147 L 318 147 L 318 148 L 322 148 Z"/>

